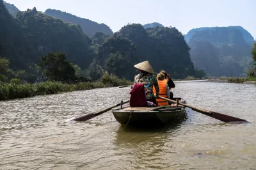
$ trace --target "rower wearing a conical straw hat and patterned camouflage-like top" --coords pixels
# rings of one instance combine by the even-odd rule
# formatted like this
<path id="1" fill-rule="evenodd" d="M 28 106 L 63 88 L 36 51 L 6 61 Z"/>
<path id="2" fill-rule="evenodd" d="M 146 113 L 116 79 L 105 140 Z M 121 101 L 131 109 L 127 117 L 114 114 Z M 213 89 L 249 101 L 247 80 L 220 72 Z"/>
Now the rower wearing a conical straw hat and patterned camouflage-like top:
<path id="1" fill-rule="evenodd" d="M 156 98 L 159 96 L 159 86 L 157 83 L 156 75 L 154 75 L 154 69 L 148 61 L 138 63 L 137 65 L 134 65 L 134 67 L 138 68 L 137 71 L 140 72 L 138 75 L 135 75 L 134 84 L 144 84 L 147 101 L 157 104 Z M 156 96 L 153 92 L 153 86 L 156 89 Z"/>

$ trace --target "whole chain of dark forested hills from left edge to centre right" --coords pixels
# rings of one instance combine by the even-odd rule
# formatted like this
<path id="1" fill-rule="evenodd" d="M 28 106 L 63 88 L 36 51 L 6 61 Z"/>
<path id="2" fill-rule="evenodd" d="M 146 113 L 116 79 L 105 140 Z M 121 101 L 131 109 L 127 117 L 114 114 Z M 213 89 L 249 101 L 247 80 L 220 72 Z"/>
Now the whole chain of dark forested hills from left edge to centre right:
<path id="1" fill-rule="evenodd" d="M 194 69 L 188 44 L 175 27 L 156 26 L 146 30 L 141 24 L 128 24 L 113 36 L 95 31 L 89 38 L 81 26 L 65 23 L 36 8 L 19 12 L 14 18 L 2 1 L 0 24 L 4 26 L 0 31 L 0 56 L 10 61 L 13 69 L 4 75 L 8 78 L 14 76 L 32 82 L 42 73 L 38 67 L 41 57 L 58 51 L 74 65 L 76 75 L 90 76 L 93 80 L 106 71 L 132 80 L 138 73 L 134 65 L 145 60 L 152 63 L 156 72 L 164 69 L 173 78 L 205 75 L 202 70 Z M 1 61 L 6 65 L 6 60 Z"/>

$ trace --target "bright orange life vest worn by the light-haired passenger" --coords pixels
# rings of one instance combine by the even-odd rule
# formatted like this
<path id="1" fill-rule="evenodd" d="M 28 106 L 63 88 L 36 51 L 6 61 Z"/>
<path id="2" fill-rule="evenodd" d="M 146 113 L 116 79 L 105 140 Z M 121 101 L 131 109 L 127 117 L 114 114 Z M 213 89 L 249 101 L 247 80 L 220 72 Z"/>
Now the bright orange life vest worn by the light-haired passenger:
<path id="1" fill-rule="evenodd" d="M 157 81 L 159 86 L 159 96 L 167 98 L 166 84 L 168 79 L 164 79 L 163 81 Z M 155 86 L 153 87 L 153 92 L 156 93 Z M 162 98 L 156 98 L 157 105 L 168 105 L 166 100 Z"/>

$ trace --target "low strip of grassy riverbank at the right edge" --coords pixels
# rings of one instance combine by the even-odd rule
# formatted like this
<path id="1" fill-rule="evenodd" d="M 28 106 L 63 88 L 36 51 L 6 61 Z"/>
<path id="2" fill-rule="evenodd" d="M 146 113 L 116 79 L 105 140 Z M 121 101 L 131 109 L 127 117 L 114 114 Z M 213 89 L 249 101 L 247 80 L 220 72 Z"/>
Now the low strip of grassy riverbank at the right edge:
<path id="1" fill-rule="evenodd" d="M 256 77 L 220 77 L 220 78 L 209 78 L 209 81 L 256 84 Z"/>

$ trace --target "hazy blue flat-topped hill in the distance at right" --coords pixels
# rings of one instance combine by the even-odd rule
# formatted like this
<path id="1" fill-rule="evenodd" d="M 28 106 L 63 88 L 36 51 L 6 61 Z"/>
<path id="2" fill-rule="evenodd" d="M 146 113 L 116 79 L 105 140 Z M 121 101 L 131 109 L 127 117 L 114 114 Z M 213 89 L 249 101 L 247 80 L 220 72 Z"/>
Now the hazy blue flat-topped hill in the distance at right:
<path id="1" fill-rule="evenodd" d="M 252 67 L 250 49 L 254 40 L 243 27 L 201 27 L 184 36 L 195 68 L 204 69 L 209 76 L 243 77 Z"/>

